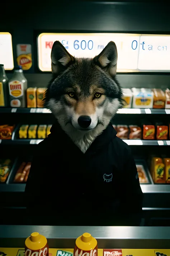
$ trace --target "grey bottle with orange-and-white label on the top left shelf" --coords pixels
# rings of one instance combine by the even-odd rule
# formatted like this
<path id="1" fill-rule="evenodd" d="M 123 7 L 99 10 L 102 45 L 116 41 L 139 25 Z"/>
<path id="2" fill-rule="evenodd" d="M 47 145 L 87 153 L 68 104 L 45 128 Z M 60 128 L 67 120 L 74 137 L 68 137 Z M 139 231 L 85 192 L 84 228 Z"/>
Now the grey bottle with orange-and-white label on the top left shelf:
<path id="1" fill-rule="evenodd" d="M 22 68 L 15 68 L 12 78 L 9 80 L 9 102 L 11 107 L 27 107 L 27 79 Z"/>

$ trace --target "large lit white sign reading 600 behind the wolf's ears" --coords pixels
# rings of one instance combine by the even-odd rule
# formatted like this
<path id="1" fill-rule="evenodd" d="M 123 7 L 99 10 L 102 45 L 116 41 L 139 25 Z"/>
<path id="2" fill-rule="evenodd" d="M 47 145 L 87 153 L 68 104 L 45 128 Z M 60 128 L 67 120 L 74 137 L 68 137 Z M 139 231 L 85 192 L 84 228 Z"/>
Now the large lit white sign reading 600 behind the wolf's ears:
<path id="1" fill-rule="evenodd" d="M 51 49 L 56 40 L 76 58 L 94 58 L 114 41 L 118 51 L 117 72 L 170 72 L 170 35 L 42 33 L 38 36 L 41 71 L 51 71 Z"/>

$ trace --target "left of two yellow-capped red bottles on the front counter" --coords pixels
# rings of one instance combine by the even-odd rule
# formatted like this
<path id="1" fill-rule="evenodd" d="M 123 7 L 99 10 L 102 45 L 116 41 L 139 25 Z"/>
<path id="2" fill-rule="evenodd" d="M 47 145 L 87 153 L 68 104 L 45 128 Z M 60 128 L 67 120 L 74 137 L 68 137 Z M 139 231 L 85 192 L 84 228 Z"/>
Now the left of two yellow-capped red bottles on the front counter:
<path id="1" fill-rule="evenodd" d="M 25 240 L 24 256 L 48 256 L 47 238 L 34 232 Z"/>

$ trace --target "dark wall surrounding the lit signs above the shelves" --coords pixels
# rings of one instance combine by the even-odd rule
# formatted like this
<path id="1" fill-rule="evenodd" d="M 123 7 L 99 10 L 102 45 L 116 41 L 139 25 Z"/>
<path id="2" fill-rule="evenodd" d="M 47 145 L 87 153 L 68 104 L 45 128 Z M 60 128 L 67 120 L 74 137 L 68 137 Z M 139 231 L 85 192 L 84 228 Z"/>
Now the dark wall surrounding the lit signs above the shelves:
<path id="1" fill-rule="evenodd" d="M 50 73 L 37 66 L 37 35 L 41 32 L 140 32 L 170 34 L 169 3 L 165 1 L 16 1 L 1 3 L 0 31 L 10 32 L 14 64 L 16 44 L 31 44 L 33 65 L 24 71 L 28 86 L 46 87 Z M 6 72 L 10 77 L 11 71 Z M 34 74 L 34 75 L 33 75 Z M 122 87 L 170 85 L 169 74 L 118 74 Z"/>

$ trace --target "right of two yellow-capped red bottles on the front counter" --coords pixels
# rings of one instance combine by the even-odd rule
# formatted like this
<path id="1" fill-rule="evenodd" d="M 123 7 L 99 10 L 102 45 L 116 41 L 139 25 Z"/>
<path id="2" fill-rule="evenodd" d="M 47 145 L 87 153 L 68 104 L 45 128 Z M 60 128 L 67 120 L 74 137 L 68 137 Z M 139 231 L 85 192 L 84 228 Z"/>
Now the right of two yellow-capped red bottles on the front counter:
<path id="1" fill-rule="evenodd" d="M 98 256 L 98 243 L 89 233 L 84 233 L 76 239 L 74 256 Z"/>

